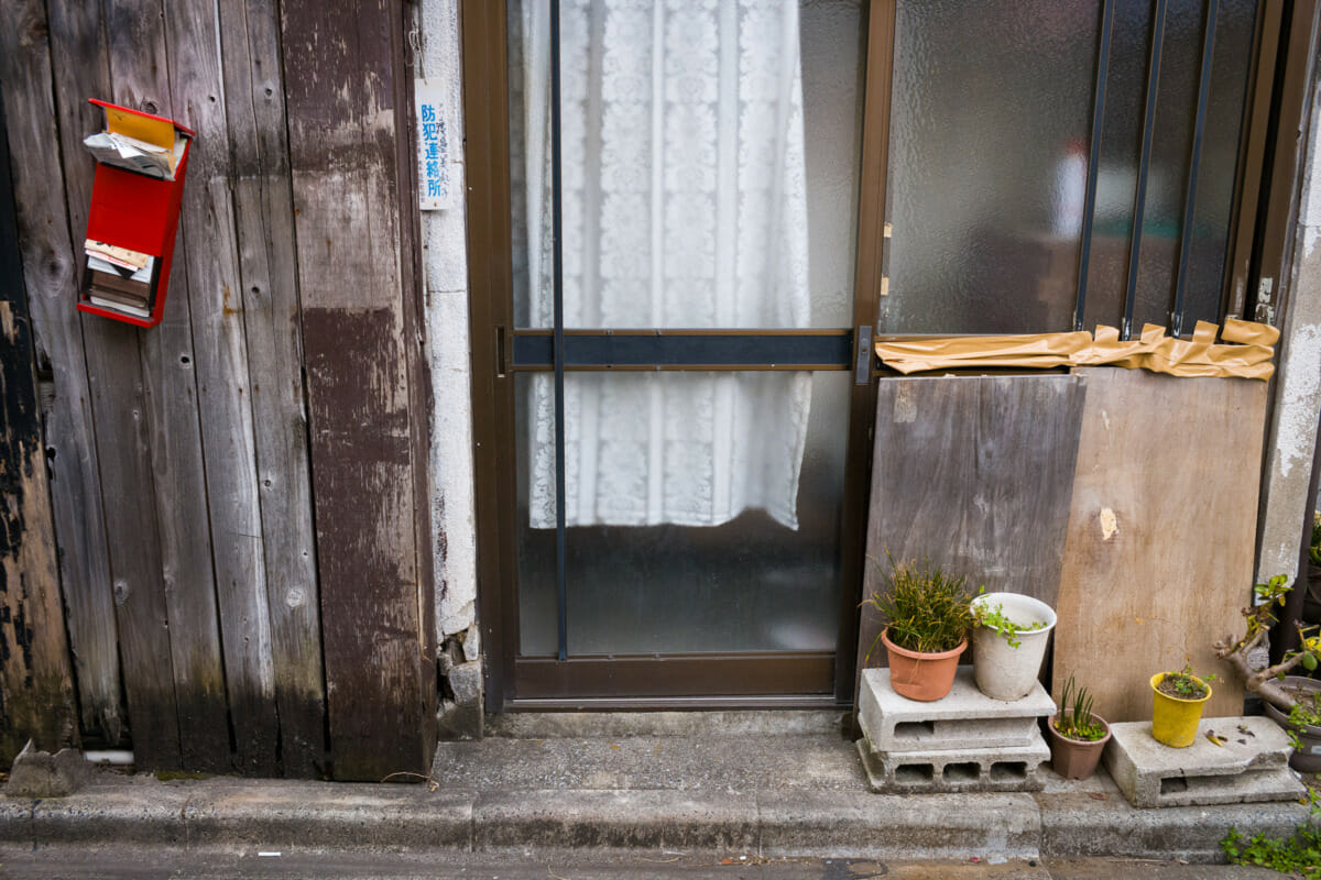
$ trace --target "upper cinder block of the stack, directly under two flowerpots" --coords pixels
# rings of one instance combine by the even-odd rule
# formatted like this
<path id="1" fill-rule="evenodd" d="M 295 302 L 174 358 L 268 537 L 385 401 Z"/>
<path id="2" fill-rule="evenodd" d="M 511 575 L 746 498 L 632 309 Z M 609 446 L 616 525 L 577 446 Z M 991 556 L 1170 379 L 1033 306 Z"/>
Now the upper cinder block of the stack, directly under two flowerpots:
<path id="1" fill-rule="evenodd" d="M 863 670 L 859 724 L 877 752 L 1013 748 L 1042 743 L 1037 719 L 1055 703 L 1038 682 L 1022 699 L 993 699 L 978 690 L 971 666 L 960 666 L 947 697 L 921 703 L 890 687 L 889 669 Z"/>

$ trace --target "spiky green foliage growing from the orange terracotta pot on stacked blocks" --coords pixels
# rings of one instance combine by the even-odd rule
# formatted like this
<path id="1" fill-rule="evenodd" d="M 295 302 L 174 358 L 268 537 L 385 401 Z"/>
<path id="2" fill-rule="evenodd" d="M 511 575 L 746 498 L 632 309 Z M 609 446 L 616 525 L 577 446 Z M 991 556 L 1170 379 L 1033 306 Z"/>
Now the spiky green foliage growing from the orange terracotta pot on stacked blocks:
<path id="1" fill-rule="evenodd" d="M 972 625 L 972 596 L 963 587 L 964 578 L 952 578 L 939 566 L 925 559 L 897 565 L 885 554 L 890 569 L 881 569 L 882 588 L 863 604 L 880 611 L 889 628 L 889 639 L 900 648 L 923 654 L 952 650 L 968 637 Z M 872 559 L 880 567 L 880 562 Z M 872 640 L 867 656 L 876 649 L 880 635 Z"/>

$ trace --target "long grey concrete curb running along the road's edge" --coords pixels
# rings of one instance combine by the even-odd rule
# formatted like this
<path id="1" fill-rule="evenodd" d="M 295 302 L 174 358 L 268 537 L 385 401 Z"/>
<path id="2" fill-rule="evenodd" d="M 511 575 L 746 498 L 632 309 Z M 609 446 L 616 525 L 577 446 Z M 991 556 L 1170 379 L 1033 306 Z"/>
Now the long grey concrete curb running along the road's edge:
<path id="1" fill-rule="evenodd" d="M 1096 788 L 1096 786 L 1092 786 Z M 1231 826 L 1285 835 L 1301 803 L 1135 810 L 1108 792 L 446 790 L 140 777 L 58 800 L 0 798 L 0 842 L 189 850 L 678 850 L 868 859 L 1221 859 Z"/>

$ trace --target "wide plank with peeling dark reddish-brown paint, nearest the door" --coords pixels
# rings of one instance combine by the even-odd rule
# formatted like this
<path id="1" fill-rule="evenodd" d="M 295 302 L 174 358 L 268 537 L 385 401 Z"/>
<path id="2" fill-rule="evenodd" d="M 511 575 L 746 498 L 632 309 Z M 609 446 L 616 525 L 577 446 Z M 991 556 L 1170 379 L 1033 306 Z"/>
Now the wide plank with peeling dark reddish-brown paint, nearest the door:
<path id="1" fill-rule="evenodd" d="M 337 778 L 417 772 L 435 741 L 395 153 L 408 112 L 394 82 L 406 75 L 392 45 L 400 16 L 398 0 L 283 4 Z"/>

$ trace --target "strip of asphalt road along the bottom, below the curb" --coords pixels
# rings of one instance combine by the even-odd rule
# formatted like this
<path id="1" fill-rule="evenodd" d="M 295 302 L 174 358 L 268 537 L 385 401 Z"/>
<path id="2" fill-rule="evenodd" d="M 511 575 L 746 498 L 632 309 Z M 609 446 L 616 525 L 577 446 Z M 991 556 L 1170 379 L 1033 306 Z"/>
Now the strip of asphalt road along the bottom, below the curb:
<path id="1" fill-rule="evenodd" d="M 1259 868 L 1189 865 L 1152 860 L 1085 859 L 1050 864 L 1009 862 L 861 862 L 845 859 L 760 859 L 680 854 L 571 854 L 567 856 L 491 854 L 328 852 L 260 855 L 180 852 L 155 848 L 15 850 L 0 847 L 0 877 L 40 880 L 157 880 L 196 877 L 316 880 L 1267 880 Z"/>

